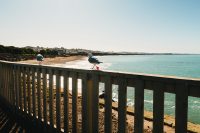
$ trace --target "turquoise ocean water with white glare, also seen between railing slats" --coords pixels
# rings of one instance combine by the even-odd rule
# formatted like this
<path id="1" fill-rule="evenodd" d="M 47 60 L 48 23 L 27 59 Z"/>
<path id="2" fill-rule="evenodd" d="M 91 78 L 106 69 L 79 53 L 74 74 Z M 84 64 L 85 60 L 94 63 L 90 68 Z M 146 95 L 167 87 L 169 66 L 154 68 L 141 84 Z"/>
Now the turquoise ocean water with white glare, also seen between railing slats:
<path id="1" fill-rule="evenodd" d="M 101 70 L 161 74 L 169 76 L 200 78 L 200 55 L 122 55 L 98 56 L 103 62 Z M 87 59 L 66 63 L 67 67 L 90 68 Z M 134 88 L 128 88 L 128 105 L 134 106 Z M 117 101 L 117 86 L 113 86 L 113 99 Z M 153 109 L 153 93 L 145 90 L 145 110 Z M 189 97 L 188 121 L 200 124 L 200 98 Z M 175 95 L 165 93 L 164 113 L 174 116 Z"/>

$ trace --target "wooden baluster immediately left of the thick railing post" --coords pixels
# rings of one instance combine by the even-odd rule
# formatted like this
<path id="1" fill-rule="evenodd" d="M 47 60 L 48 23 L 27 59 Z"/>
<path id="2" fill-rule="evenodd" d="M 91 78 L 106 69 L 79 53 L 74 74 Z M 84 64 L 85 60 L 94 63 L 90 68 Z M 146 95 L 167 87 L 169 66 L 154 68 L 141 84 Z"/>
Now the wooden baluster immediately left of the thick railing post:
<path id="1" fill-rule="evenodd" d="M 72 74 L 72 132 L 77 132 L 77 73 Z"/>

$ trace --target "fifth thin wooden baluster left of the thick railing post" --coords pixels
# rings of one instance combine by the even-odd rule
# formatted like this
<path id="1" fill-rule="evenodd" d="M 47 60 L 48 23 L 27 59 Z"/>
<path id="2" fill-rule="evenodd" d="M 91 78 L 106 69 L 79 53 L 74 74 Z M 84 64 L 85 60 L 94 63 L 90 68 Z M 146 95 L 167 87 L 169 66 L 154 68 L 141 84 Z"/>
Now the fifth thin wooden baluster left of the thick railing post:
<path id="1" fill-rule="evenodd" d="M 43 116 L 44 116 L 44 124 L 47 124 L 47 100 L 46 100 L 46 88 L 47 88 L 47 75 L 46 69 L 42 70 L 43 75 Z"/>

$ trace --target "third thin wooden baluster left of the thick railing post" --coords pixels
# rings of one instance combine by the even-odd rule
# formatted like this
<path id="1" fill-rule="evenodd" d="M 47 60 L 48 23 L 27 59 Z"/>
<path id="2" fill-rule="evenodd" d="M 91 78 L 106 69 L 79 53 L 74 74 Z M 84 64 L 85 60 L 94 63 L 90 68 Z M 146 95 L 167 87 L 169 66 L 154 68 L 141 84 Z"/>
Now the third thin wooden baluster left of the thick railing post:
<path id="1" fill-rule="evenodd" d="M 61 131 L 60 126 L 60 90 L 61 90 L 61 83 L 60 83 L 60 73 L 56 71 L 56 128 L 58 132 Z"/>

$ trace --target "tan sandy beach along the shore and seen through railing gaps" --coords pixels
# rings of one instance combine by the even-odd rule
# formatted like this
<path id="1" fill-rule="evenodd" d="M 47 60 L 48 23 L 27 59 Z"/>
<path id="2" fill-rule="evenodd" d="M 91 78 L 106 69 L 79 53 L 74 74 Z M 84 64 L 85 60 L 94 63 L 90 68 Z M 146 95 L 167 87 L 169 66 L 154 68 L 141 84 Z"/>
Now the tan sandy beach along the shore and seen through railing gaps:
<path id="1" fill-rule="evenodd" d="M 55 65 L 55 64 L 65 64 L 69 61 L 79 61 L 84 60 L 85 56 L 69 56 L 69 57 L 56 57 L 56 58 L 45 58 L 42 64 L 44 65 Z M 30 63 L 30 64 L 38 64 L 36 60 L 26 60 L 21 61 L 22 63 Z M 71 97 L 70 97 L 71 99 Z M 81 94 L 78 99 L 78 113 L 81 116 Z M 71 103 L 70 103 L 71 104 Z M 104 100 L 99 99 L 99 123 L 100 123 L 100 132 L 103 132 L 103 123 L 104 123 Z M 112 118 L 113 118 L 113 132 L 117 132 L 117 120 L 118 120 L 118 112 L 117 112 L 117 102 L 113 102 L 113 110 L 112 110 Z M 69 110 L 71 110 L 72 106 L 69 106 Z M 80 110 L 79 110 L 80 109 Z M 72 116 L 69 116 L 70 119 Z M 81 121 L 81 118 L 78 116 Z M 149 111 L 144 111 L 144 132 L 152 132 L 152 121 L 153 121 L 153 113 Z M 80 123 L 79 123 L 80 124 Z M 81 128 L 81 126 L 79 126 Z M 133 132 L 134 131 L 134 109 L 133 107 L 127 106 L 127 131 Z M 175 119 L 172 116 L 165 115 L 164 116 L 164 132 L 171 133 L 175 132 Z M 188 122 L 188 130 L 189 132 L 200 132 L 200 125 L 193 124 Z"/>

